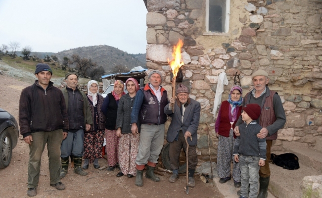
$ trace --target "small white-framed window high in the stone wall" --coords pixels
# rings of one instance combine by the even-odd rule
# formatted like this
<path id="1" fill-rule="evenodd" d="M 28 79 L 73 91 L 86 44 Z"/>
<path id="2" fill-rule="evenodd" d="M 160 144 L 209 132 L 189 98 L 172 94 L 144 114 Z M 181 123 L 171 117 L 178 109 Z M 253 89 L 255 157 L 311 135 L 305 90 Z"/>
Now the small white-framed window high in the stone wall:
<path id="1" fill-rule="evenodd" d="M 206 32 L 228 33 L 230 0 L 206 0 Z"/>

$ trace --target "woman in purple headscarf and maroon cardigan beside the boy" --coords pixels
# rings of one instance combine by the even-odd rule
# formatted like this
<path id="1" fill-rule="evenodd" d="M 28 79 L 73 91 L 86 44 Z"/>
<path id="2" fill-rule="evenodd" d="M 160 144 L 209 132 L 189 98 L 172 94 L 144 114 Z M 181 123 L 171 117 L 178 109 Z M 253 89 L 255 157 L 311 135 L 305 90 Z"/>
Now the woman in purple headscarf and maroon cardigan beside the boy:
<path id="1" fill-rule="evenodd" d="M 216 135 L 219 137 L 217 150 L 217 172 L 219 183 L 225 183 L 230 180 L 230 162 L 232 160 L 232 178 L 234 186 L 239 188 L 240 184 L 240 169 L 239 163 L 233 158 L 233 147 L 235 142 L 236 121 L 241 114 L 242 109 L 242 89 L 235 85 L 230 89 L 229 99 L 222 102 L 218 112 L 218 117 L 215 124 Z"/>

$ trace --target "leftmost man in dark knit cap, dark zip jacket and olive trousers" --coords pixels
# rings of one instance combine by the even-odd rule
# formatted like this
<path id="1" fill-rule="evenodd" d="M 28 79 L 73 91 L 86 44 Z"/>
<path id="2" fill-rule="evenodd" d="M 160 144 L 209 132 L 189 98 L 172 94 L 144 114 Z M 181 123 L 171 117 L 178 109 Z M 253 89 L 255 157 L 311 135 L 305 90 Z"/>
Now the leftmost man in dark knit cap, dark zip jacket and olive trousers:
<path id="1" fill-rule="evenodd" d="M 35 84 L 22 90 L 19 100 L 20 134 L 29 145 L 28 191 L 37 195 L 40 164 L 47 144 L 50 186 L 64 190 L 60 182 L 60 145 L 67 136 L 68 115 L 61 91 L 50 81 L 52 70 L 47 64 L 37 64 Z"/>

